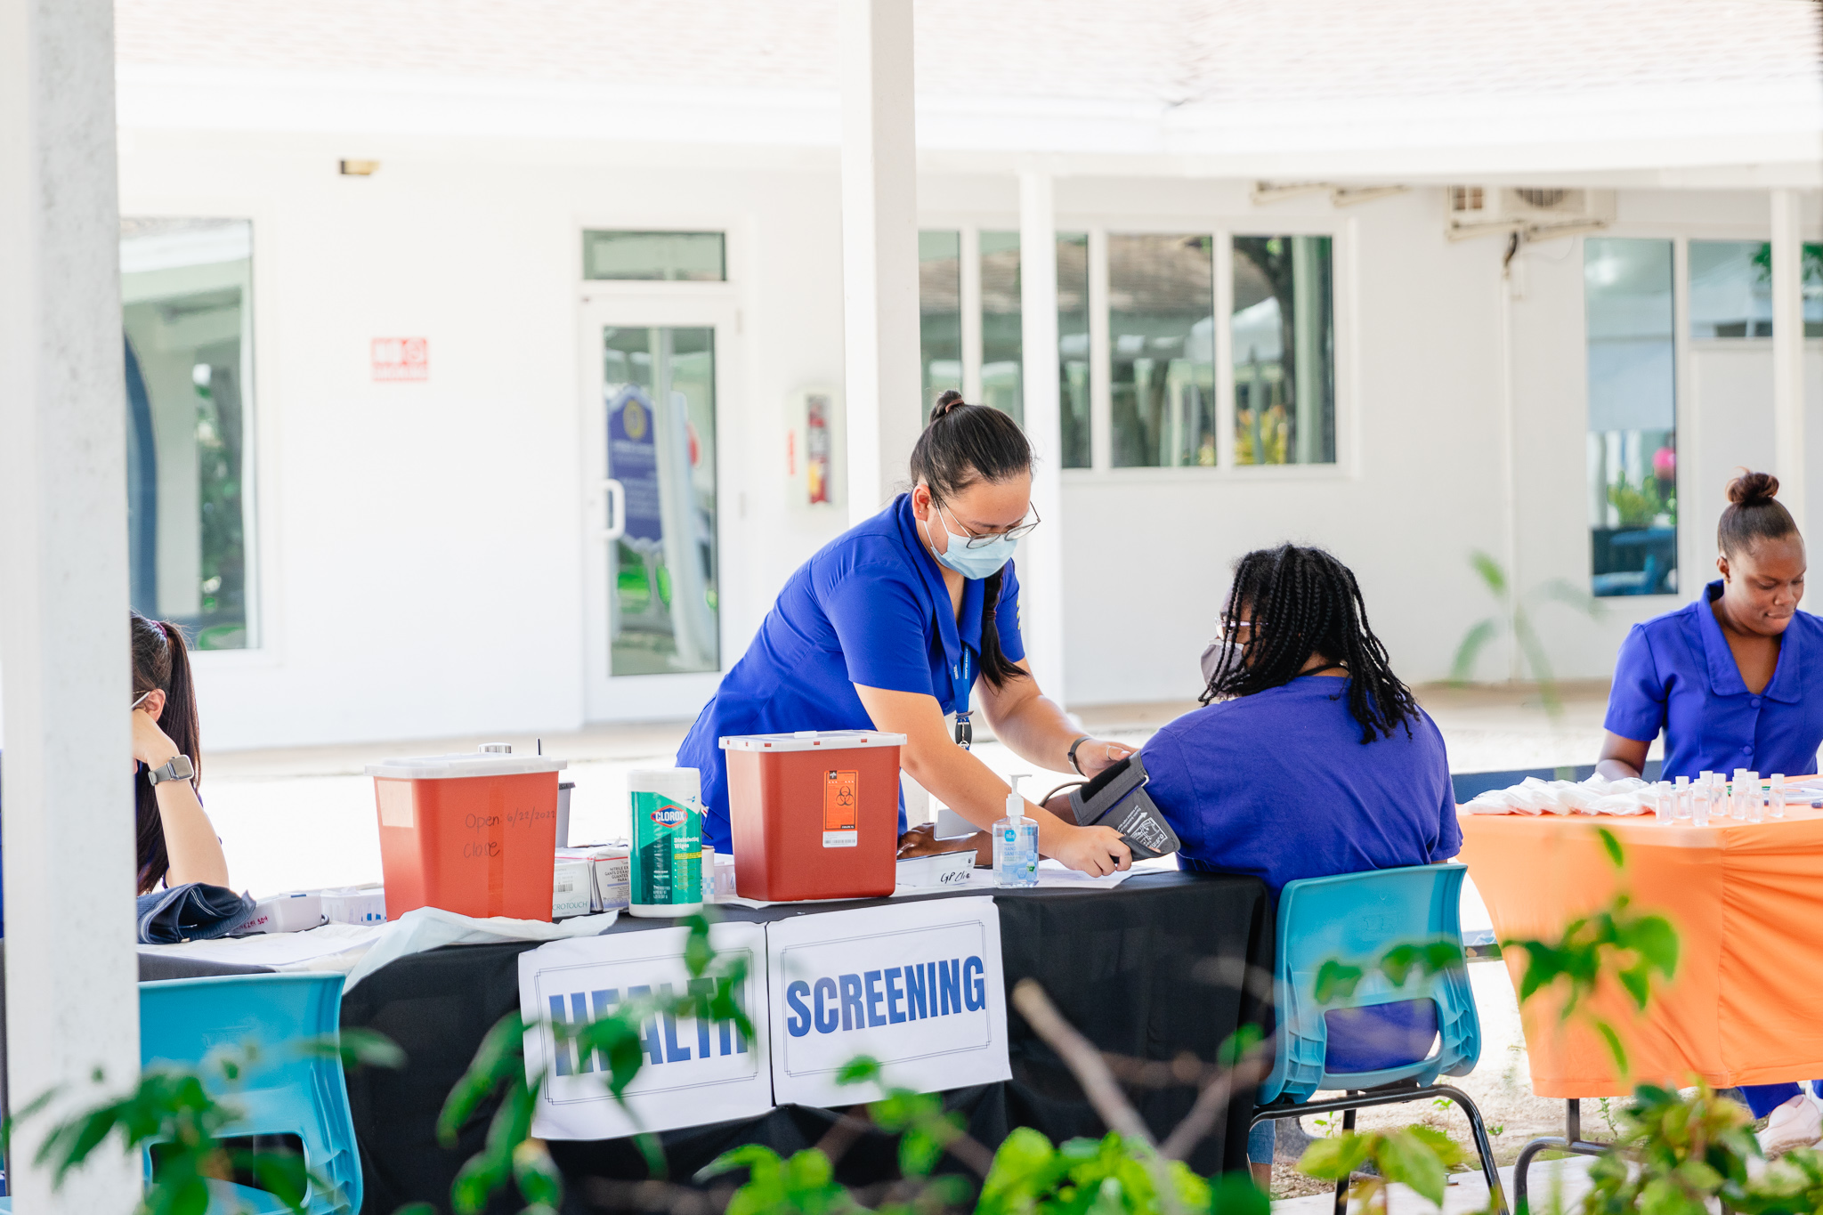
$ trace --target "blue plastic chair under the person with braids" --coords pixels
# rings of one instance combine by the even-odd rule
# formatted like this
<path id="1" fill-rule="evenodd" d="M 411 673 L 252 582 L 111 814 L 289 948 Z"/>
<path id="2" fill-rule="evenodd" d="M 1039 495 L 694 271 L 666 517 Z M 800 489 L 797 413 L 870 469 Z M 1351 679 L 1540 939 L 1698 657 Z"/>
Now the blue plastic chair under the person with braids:
<path id="1" fill-rule="evenodd" d="M 1289 882 L 1278 896 L 1278 956 L 1272 995 L 1278 1006 L 1272 1073 L 1260 1084 L 1254 1124 L 1305 1113 L 1342 1111 L 1344 1129 L 1354 1129 L 1354 1111 L 1447 1097 L 1469 1118 L 1488 1193 L 1506 1210 L 1493 1148 L 1480 1109 L 1466 1093 L 1437 1084 L 1440 1075 L 1468 1075 L 1480 1058 L 1480 1018 L 1464 965 L 1437 975 L 1413 971 L 1404 987 L 1380 973 L 1380 958 L 1398 944 L 1449 940 L 1462 945 L 1458 904 L 1468 865 L 1413 865 L 1373 869 L 1333 878 Z M 1364 971 L 1354 991 L 1316 1000 L 1323 962 Z M 1331 1071 L 1329 1015 L 1402 1000 L 1431 1000 L 1437 1007 L 1437 1044 L 1422 1058 L 1373 1071 Z M 1345 1097 L 1313 1102 L 1313 1093 Z M 1347 1179 L 1336 1184 L 1336 1211 L 1347 1210 Z"/>

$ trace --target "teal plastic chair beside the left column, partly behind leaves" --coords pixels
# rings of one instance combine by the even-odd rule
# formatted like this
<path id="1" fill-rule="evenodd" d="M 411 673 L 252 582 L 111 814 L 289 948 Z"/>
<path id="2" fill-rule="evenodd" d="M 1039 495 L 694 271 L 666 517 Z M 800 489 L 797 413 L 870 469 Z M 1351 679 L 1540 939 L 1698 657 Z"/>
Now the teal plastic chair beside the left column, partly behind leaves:
<path id="1" fill-rule="evenodd" d="M 297 1049 L 301 1038 L 337 1033 L 341 989 L 341 975 L 221 975 L 139 985 L 142 1067 L 195 1066 L 221 1047 L 259 1046 L 259 1062 L 241 1084 L 230 1087 L 219 1075 L 210 1080 L 210 1091 L 246 1115 L 222 1133 L 297 1135 L 310 1171 L 334 1186 L 312 1186 L 304 1202 L 312 1215 L 361 1210 L 361 1155 L 341 1060 Z M 148 1175 L 149 1168 L 148 1159 Z M 235 1204 L 257 1215 L 284 1210 L 270 1193 L 248 1186 L 219 1182 L 211 1189 L 211 1215 Z"/>

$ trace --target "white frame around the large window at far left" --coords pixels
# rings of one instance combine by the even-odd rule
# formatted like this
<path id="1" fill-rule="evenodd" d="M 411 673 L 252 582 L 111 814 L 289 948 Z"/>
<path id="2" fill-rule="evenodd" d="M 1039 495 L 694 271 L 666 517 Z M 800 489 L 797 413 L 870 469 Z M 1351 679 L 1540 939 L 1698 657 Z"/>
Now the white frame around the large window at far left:
<path id="1" fill-rule="evenodd" d="M 275 669 L 283 665 L 284 614 L 279 588 L 283 563 L 281 497 L 277 435 L 284 426 L 281 355 L 273 315 L 281 308 L 277 281 L 279 208 L 263 195 L 120 195 L 122 219 L 233 219 L 252 224 L 252 253 L 248 257 L 250 317 L 242 319 L 248 335 L 246 353 L 246 435 L 253 457 L 246 461 L 252 485 L 242 485 L 246 501 L 246 634 L 248 645 L 237 650 L 190 648 L 190 665 L 199 672 L 215 669 Z"/>

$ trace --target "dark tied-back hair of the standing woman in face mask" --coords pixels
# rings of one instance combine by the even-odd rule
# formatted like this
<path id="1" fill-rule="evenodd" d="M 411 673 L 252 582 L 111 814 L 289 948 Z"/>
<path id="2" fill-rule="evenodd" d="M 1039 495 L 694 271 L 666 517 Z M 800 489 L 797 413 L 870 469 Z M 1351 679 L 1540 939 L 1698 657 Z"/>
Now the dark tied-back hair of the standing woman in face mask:
<path id="1" fill-rule="evenodd" d="M 964 403 L 953 388 L 937 397 L 912 448 L 912 485 L 922 481 L 932 499 L 948 503 L 975 481 L 1006 481 L 1023 472 L 1032 472 L 1032 444 L 1019 423 L 992 406 Z M 995 689 L 1026 678 L 1001 650 L 1001 630 L 994 623 L 1004 581 L 1003 565 L 988 574 L 981 596 L 981 678 Z"/>

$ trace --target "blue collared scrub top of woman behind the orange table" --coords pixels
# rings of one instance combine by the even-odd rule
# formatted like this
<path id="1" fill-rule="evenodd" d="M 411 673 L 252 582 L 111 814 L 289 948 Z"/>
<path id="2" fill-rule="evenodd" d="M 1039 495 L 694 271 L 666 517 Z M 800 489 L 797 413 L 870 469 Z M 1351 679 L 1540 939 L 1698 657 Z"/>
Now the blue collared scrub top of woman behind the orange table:
<path id="1" fill-rule="evenodd" d="M 1717 597 L 1721 581 L 1695 603 L 1633 625 L 1613 665 L 1604 725 L 1646 743 L 1664 730 L 1664 780 L 1694 780 L 1705 769 L 1816 772 L 1823 745 L 1823 619 L 1792 614 L 1772 681 L 1754 696 L 1715 623 L 1710 601 Z"/>

